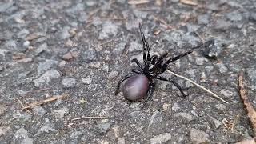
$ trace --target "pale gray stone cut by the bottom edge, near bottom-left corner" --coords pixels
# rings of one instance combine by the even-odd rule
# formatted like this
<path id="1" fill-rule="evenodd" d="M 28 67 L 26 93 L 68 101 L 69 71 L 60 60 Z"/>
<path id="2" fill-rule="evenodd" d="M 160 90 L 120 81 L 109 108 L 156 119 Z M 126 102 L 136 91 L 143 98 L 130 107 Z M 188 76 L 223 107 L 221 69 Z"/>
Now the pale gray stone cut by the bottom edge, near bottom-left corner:
<path id="1" fill-rule="evenodd" d="M 29 137 L 29 133 L 24 128 L 19 129 L 14 134 L 12 143 L 21 143 L 21 144 L 33 144 L 34 139 Z"/>

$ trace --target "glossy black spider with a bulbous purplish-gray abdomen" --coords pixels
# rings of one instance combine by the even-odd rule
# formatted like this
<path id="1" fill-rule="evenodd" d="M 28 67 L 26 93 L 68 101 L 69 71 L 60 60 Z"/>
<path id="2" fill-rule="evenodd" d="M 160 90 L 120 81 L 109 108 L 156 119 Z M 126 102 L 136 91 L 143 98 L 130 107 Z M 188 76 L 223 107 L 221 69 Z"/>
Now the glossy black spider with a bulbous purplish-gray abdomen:
<path id="1" fill-rule="evenodd" d="M 174 84 L 178 88 L 178 90 L 181 91 L 183 97 L 186 97 L 186 94 L 184 94 L 181 86 L 178 85 L 177 82 L 175 82 L 172 78 L 163 78 L 159 76 L 159 74 L 162 74 L 166 71 L 167 66 L 170 64 L 170 62 L 174 62 L 178 60 L 179 58 L 182 58 L 186 56 L 187 54 L 192 53 L 193 51 L 187 51 L 184 54 L 180 54 L 174 58 L 166 59 L 164 62 L 164 59 L 166 58 L 167 54 L 162 54 L 161 56 L 152 55 L 150 56 L 150 46 L 148 42 L 146 42 L 146 38 L 142 31 L 142 26 L 139 24 L 139 30 L 142 36 L 142 42 L 143 42 L 143 61 L 144 66 L 142 66 L 138 59 L 134 58 L 131 62 L 135 62 L 139 68 L 138 69 L 132 69 L 130 74 L 127 74 L 126 77 L 122 78 L 118 82 L 118 86 L 115 91 L 115 95 L 118 94 L 119 88 L 122 82 L 124 82 L 126 79 L 126 83 L 123 86 L 122 92 L 124 97 L 127 100 L 130 101 L 136 101 L 138 99 L 141 99 L 146 96 L 146 100 L 143 103 L 143 106 L 145 106 L 146 102 L 149 100 L 150 96 L 152 95 L 155 87 L 155 79 L 159 79 L 162 81 L 168 81 Z M 200 45 L 201 46 L 201 45 Z M 200 46 L 196 46 L 192 49 L 198 48 Z"/>

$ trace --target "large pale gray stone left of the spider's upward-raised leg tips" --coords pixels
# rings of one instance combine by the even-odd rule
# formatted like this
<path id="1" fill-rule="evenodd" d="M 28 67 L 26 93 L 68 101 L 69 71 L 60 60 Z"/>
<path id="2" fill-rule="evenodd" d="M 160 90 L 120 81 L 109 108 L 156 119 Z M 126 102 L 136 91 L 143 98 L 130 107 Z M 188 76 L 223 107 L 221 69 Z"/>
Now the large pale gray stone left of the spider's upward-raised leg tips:
<path id="1" fill-rule="evenodd" d="M 102 31 L 98 35 L 98 39 L 107 39 L 116 36 L 116 34 L 118 34 L 118 26 L 112 22 L 104 22 Z"/>

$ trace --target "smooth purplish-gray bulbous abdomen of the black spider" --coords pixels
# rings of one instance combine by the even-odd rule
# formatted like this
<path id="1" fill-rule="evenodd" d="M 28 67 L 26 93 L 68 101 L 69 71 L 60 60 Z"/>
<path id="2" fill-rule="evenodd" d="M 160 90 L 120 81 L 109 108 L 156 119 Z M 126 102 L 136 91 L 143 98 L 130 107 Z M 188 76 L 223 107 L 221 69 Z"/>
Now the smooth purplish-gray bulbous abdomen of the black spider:
<path id="1" fill-rule="evenodd" d="M 122 88 L 123 95 L 130 101 L 143 98 L 149 89 L 149 79 L 144 74 L 134 74 L 127 79 Z"/>

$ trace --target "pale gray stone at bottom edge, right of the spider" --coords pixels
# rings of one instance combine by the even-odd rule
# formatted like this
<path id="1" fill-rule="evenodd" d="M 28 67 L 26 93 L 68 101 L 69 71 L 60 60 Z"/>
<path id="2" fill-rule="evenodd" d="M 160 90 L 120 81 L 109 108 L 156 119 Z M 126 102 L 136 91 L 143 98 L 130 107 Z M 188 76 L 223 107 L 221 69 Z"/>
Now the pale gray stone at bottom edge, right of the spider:
<path id="1" fill-rule="evenodd" d="M 192 143 L 209 143 L 209 135 L 201 130 L 192 128 L 190 130 L 190 140 Z"/>

